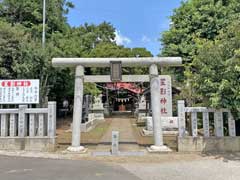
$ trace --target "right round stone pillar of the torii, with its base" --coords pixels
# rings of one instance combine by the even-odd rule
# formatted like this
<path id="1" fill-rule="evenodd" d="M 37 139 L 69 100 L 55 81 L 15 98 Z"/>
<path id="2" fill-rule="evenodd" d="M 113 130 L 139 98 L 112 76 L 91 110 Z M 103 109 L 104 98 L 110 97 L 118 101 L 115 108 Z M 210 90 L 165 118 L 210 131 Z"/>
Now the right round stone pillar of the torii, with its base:
<path id="1" fill-rule="evenodd" d="M 154 145 L 150 147 L 150 151 L 169 151 L 163 146 L 163 134 L 161 123 L 161 103 L 160 103 L 160 79 L 158 76 L 158 67 L 152 64 L 149 68 L 150 72 L 150 88 L 151 88 L 151 107 L 153 119 Z"/>

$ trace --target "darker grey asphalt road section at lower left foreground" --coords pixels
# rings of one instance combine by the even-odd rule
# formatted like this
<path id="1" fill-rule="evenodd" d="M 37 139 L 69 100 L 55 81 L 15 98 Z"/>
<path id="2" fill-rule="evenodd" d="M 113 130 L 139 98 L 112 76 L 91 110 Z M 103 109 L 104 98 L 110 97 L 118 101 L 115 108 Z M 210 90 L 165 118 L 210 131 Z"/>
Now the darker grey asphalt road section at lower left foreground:
<path id="1" fill-rule="evenodd" d="M 0 156 L 1 180 L 140 180 L 121 166 L 94 161 Z"/>

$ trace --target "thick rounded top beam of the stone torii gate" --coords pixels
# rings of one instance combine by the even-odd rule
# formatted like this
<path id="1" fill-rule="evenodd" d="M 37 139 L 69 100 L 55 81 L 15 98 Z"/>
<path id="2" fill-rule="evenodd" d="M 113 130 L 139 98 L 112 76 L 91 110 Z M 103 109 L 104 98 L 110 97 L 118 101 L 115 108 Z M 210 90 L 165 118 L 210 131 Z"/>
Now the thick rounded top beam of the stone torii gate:
<path id="1" fill-rule="evenodd" d="M 159 66 L 181 66 L 180 57 L 144 57 L 144 58 L 53 58 L 55 67 L 110 67 L 111 62 L 121 61 L 123 67 L 142 67 L 156 64 Z"/>

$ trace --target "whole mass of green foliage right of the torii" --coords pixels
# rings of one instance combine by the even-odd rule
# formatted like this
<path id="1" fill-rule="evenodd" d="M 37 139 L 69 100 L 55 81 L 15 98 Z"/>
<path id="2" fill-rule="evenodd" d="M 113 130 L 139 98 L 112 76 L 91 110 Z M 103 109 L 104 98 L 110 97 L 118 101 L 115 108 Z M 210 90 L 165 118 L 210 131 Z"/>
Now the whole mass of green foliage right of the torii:
<path id="1" fill-rule="evenodd" d="M 161 56 L 183 57 L 176 68 L 188 105 L 225 107 L 240 117 L 238 0 L 188 0 L 170 17 Z"/>

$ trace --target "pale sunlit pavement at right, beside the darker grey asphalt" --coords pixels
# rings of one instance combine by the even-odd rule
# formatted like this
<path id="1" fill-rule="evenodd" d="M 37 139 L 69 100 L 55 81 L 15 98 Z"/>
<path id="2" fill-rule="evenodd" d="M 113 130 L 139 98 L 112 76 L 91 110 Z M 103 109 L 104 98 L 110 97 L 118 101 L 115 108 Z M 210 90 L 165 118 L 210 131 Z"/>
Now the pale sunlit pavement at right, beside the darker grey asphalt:
<path id="1" fill-rule="evenodd" d="M 240 180 L 240 161 L 220 159 L 122 164 L 143 180 Z"/>

